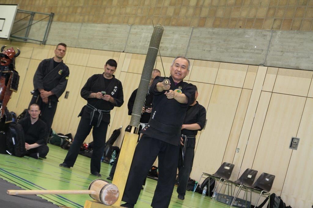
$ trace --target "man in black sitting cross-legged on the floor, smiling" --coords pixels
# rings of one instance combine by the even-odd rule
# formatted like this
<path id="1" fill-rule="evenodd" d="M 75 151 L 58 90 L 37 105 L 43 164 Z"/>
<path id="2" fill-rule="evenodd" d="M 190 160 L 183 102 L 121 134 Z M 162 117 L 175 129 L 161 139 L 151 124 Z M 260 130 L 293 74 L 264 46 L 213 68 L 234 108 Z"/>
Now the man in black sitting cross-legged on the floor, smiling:
<path id="1" fill-rule="evenodd" d="M 39 119 L 40 109 L 38 104 L 31 104 L 28 109 L 30 116 L 18 121 L 23 127 L 25 135 L 25 149 L 30 157 L 45 158 L 49 152 L 47 146 L 47 124 Z"/>

